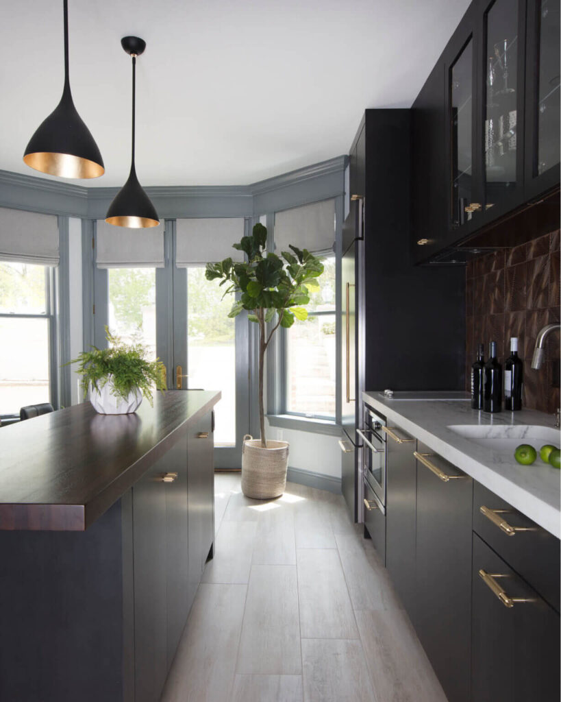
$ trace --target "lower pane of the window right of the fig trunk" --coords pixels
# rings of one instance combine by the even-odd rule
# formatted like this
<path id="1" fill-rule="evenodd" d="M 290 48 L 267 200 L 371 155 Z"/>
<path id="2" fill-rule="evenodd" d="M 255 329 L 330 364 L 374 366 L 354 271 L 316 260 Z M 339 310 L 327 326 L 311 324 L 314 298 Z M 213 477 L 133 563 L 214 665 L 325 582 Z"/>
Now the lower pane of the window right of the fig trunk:
<path id="1" fill-rule="evenodd" d="M 335 416 L 335 315 L 295 322 L 288 331 L 289 412 Z"/>

